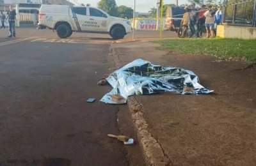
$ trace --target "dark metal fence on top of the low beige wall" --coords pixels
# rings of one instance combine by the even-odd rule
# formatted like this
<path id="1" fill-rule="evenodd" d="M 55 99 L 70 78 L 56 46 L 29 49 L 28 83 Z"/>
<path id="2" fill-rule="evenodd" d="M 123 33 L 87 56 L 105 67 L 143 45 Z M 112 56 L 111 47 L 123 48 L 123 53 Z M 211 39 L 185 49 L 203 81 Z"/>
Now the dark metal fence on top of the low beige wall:
<path id="1" fill-rule="evenodd" d="M 223 24 L 256 26 L 256 0 L 225 0 Z"/>

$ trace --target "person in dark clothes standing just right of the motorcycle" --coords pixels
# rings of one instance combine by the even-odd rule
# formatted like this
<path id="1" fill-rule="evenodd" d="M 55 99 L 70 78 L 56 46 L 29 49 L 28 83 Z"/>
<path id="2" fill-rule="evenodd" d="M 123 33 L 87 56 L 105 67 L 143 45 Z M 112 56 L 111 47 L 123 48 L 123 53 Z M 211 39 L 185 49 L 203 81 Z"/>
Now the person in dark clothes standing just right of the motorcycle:
<path id="1" fill-rule="evenodd" d="M 191 4 L 189 10 L 189 38 L 192 38 L 194 34 L 196 35 L 196 38 L 200 38 L 198 32 L 198 11 L 195 8 L 195 3 Z"/>

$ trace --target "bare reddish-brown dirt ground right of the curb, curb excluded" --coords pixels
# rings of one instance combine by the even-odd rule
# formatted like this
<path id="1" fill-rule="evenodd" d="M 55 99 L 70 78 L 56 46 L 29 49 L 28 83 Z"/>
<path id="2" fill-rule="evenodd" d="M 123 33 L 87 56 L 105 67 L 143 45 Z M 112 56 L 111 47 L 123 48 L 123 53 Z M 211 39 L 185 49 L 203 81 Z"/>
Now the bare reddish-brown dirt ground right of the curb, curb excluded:
<path id="1" fill-rule="evenodd" d="M 172 52 L 170 66 L 195 72 L 214 94 L 138 96 L 150 132 L 174 165 L 255 165 L 255 70 L 243 62 Z"/>

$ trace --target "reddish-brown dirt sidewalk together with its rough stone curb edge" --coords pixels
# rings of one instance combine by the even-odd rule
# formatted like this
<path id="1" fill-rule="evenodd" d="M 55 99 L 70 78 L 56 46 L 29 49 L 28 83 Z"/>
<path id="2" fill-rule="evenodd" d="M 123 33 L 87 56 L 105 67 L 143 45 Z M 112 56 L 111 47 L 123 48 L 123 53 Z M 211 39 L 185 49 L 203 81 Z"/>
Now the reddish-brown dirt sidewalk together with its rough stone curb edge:
<path id="1" fill-rule="evenodd" d="M 114 43 L 116 66 L 142 58 L 198 75 L 210 95 L 132 96 L 129 108 L 148 165 L 256 165 L 256 70 L 156 50 L 148 41 Z"/>

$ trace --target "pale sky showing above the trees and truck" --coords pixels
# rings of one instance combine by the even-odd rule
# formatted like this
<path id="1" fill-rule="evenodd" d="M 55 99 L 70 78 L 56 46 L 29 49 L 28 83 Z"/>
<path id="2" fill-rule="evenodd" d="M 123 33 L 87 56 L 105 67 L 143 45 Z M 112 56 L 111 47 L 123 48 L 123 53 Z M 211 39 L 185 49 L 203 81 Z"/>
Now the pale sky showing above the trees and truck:
<path id="1" fill-rule="evenodd" d="M 91 4 L 91 6 L 97 7 L 97 3 L 100 0 L 76 0 L 78 3 Z M 75 0 L 70 0 L 71 3 L 74 3 Z M 116 0 L 117 6 L 125 5 L 133 8 L 134 0 Z M 150 8 L 156 7 L 157 0 L 136 0 L 136 11 L 138 12 L 148 12 Z M 180 4 L 188 4 L 186 0 L 179 0 Z M 77 3 L 74 3 L 77 5 Z M 164 0 L 164 4 L 175 4 L 175 0 Z"/>

